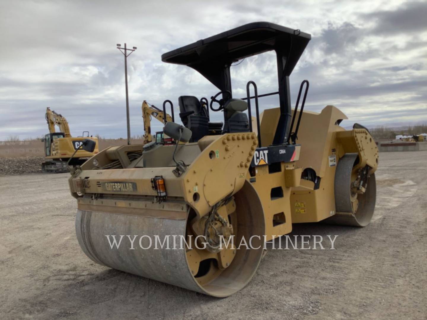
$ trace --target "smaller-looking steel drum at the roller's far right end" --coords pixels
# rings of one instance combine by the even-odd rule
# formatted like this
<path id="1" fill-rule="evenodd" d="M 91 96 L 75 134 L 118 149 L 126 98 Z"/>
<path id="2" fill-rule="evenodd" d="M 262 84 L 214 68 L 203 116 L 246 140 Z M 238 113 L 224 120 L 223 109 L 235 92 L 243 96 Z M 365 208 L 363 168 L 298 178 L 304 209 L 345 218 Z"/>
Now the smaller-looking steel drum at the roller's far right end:
<path id="1" fill-rule="evenodd" d="M 351 184 L 355 176 L 353 167 L 357 156 L 357 153 L 349 153 L 339 159 L 334 183 L 336 213 L 325 219 L 325 223 L 365 227 L 371 222 L 377 197 L 375 174 L 368 178 L 365 192 L 352 192 Z"/>

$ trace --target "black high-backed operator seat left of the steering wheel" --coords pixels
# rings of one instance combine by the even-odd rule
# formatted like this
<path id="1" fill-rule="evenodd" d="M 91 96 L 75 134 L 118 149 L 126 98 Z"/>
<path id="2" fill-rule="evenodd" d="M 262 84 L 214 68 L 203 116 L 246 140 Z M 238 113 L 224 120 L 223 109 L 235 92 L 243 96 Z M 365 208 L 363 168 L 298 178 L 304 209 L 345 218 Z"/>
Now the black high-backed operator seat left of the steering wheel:
<path id="1" fill-rule="evenodd" d="M 202 107 L 195 96 L 180 96 L 178 98 L 179 117 L 184 126 L 193 133 L 190 142 L 197 142 L 208 135 L 209 118 L 205 107 Z"/>

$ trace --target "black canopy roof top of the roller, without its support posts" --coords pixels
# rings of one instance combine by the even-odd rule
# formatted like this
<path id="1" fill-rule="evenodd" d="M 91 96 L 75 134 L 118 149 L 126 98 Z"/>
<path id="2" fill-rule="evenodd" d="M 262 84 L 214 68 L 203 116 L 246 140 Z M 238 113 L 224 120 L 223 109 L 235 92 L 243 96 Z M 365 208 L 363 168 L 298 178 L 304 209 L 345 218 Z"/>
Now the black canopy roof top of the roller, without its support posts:
<path id="1" fill-rule="evenodd" d="M 270 22 L 253 22 L 164 53 L 164 62 L 184 64 L 202 73 L 213 84 L 211 73 L 234 61 L 276 50 L 286 59 L 284 73 L 292 73 L 311 39 L 308 33 Z"/>

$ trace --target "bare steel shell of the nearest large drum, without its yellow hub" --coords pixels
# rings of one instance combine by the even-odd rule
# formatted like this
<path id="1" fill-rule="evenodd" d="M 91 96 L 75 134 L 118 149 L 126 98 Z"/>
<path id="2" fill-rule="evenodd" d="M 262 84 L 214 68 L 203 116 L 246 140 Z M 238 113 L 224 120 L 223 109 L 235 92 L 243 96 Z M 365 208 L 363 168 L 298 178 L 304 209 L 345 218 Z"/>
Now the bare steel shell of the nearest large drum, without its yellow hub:
<path id="1" fill-rule="evenodd" d="M 263 209 L 252 185 L 246 182 L 234 195 L 234 200 L 237 216 L 237 234 L 234 243 L 239 244 L 243 236 L 246 240 L 254 235 L 263 239 L 265 232 Z M 100 265 L 214 297 L 227 297 L 239 291 L 257 270 L 263 253 L 261 240 L 257 243 L 260 249 L 236 250 L 231 264 L 217 272 L 215 278 L 207 283 L 198 281 L 188 265 L 187 254 L 191 250 L 186 250 L 185 247 L 177 250 L 167 250 L 165 246 L 163 249 L 154 248 L 156 235 L 161 241 L 165 236 L 170 236 L 170 243 L 173 235 L 185 236 L 188 215 L 185 219 L 176 220 L 154 218 L 155 216 L 156 212 L 153 212 L 152 216 L 140 216 L 77 210 L 77 239 L 85 254 Z M 118 249 L 115 246 L 111 249 L 106 235 L 115 235 L 117 241 L 120 235 L 124 235 L 123 243 Z M 130 242 L 127 235 L 131 239 L 137 235 L 134 242 L 135 250 L 129 249 Z M 149 249 L 140 248 L 141 236 L 148 236 L 141 240 L 143 247 L 149 247 L 149 238 L 152 239 L 152 246 Z"/>

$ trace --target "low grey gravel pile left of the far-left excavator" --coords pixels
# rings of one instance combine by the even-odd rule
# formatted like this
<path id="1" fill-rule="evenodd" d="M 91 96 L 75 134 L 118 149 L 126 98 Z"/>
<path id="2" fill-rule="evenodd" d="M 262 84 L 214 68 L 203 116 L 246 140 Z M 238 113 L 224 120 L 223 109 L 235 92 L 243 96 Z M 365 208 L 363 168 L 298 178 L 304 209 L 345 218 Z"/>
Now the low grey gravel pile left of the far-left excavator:
<path id="1" fill-rule="evenodd" d="M 41 173 L 44 157 L 0 158 L 0 175 Z"/>

